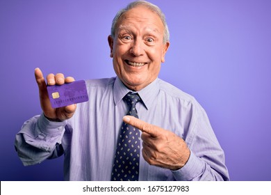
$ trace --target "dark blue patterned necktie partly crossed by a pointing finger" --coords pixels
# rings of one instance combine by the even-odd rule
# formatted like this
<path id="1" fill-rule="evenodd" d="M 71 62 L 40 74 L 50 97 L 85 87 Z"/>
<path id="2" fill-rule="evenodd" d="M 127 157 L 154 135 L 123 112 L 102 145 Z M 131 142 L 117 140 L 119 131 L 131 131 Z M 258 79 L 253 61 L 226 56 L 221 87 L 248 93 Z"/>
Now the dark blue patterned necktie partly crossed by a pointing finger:
<path id="1" fill-rule="evenodd" d="M 127 93 L 124 101 L 129 107 L 127 115 L 138 118 L 136 103 L 140 102 L 138 93 Z M 112 170 L 112 181 L 137 181 L 139 176 L 140 132 L 137 128 L 122 123 Z"/>

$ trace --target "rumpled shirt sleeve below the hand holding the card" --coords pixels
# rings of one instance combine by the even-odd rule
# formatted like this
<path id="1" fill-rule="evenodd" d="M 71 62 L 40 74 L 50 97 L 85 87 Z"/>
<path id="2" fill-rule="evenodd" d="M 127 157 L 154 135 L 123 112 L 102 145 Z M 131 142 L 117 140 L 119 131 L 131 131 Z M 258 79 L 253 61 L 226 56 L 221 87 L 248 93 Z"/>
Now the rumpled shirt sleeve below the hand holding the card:
<path id="1" fill-rule="evenodd" d="M 67 121 L 51 122 L 44 114 L 27 120 L 16 134 L 15 150 L 24 166 L 63 154 L 61 140 Z"/>

